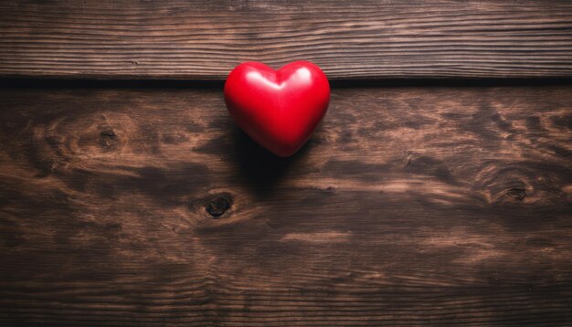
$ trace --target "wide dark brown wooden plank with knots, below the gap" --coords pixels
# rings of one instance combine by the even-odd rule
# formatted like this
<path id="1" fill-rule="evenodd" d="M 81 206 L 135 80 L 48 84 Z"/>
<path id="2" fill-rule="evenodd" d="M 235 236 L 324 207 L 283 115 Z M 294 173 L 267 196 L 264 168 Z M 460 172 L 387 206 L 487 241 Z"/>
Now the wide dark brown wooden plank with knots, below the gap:
<path id="1" fill-rule="evenodd" d="M 0 98 L 2 325 L 572 322 L 570 86 L 336 89 L 290 160 L 220 90 Z"/>

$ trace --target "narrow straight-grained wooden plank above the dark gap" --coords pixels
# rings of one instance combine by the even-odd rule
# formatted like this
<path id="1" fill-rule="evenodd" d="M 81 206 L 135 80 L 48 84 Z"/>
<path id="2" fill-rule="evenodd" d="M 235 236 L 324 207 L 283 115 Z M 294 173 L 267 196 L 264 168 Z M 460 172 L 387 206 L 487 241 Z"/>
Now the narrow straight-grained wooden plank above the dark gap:
<path id="1" fill-rule="evenodd" d="M 572 3 L 0 3 L 0 76 L 224 79 L 295 59 L 333 79 L 569 78 Z"/>

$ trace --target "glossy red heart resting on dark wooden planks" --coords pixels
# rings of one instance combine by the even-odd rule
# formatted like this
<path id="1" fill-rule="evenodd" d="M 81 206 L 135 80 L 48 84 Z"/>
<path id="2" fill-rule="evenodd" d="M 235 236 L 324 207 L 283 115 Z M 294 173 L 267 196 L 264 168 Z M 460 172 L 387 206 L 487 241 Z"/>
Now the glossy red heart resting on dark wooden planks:
<path id="1" fill-rule="evenodd" d="M 278 70 L 245 62 L 228 75 L 225 101 L 250 138 L 287 157 L 308 141 L 328 110 L 330 84 L 322 69 L 308 61 Z"/>

